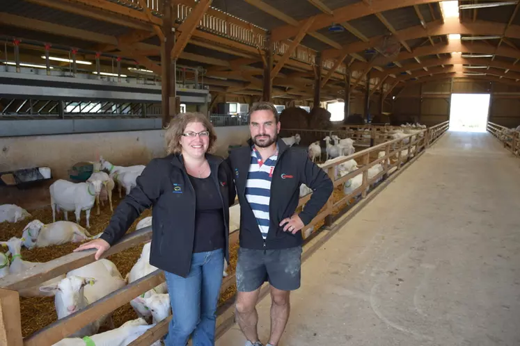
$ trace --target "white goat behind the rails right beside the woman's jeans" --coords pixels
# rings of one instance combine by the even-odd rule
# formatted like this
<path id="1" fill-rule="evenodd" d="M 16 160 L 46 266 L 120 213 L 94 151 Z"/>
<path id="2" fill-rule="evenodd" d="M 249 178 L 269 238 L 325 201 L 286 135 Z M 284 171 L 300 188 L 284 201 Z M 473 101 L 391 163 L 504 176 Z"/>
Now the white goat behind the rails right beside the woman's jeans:
<path id="1" fill-rule="evenodd" d="M 137 229 L 137 227 L 136 227 Z M 132 283 L 136 280 L 141 279 L 142 277 L 145 277 L 146 275 L 155 272 L 157 270 L 157 267 L 154 267 L 153 265 L 150 265 L 150 246 L 151 242 L 147 242 L 143 250 L 141 251 L 141 256 L 137 260 L 137 262 L 132 267 L 132 270 L 127 274 L 127 277 L 125 280 L 128 281 L 128 283 Z M 155 288 L 152 288 L 151 290 L 146 291 L 141 295 L 141 298 L 148 298 L 151 297 L 154 293 L 167 293 L 168 288 L 166 286 L 166 283 L 161 283 L 159 286 L 156 286 Z M 137 313 L 139 317 L 146 318 L 149 317 L 151 314 L 150 310 L 146 308 L 145 304 L 141 299 L 138 299 L 139 297 L 136 297 L 130 301 L 130 305 L 132 305 L 132 308 L 134 308 L 134 311 Z"/>

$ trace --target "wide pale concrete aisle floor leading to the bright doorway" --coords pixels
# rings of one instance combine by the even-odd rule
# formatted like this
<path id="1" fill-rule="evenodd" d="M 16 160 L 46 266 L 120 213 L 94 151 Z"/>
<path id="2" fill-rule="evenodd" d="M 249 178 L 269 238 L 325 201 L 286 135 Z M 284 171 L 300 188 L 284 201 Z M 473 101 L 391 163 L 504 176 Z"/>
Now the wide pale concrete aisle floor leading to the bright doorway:
<path id="1" fill-rule="evenodd" d="M 520 160 L 446 133 L 308 258 L 291 297 L 279 346 L 520 345 Z M 235 325 L 216 345 L 244 340 Z"/>

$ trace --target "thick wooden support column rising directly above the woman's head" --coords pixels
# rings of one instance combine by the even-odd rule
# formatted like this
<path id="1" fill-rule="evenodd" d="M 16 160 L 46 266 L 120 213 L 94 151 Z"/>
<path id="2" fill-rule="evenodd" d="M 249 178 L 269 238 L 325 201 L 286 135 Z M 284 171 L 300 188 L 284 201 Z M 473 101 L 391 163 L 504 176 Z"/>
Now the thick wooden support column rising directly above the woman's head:
<path id="1" fill-rule="evenodd" d="M 161 108 L 162 126 L 166 127 L 178 106 L 175 102 L 175 61 L 171 59 L 171 51 L 175 44 L 175 33 L 173 28 L 173 13 L 171 0 L 163 0 L 164 17 L 162 33 L 164 42 L 161 42 Z"/>

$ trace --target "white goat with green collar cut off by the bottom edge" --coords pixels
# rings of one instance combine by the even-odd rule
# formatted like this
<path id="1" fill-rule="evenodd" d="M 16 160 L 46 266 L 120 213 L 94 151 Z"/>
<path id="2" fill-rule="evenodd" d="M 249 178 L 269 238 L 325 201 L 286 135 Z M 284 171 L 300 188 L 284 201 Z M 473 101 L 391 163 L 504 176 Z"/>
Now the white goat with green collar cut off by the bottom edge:
<path id="1" fill-rule="evenodd" d="M 104 333 L 90 336 L 95 346 L 126 346 L 132 341 L 143 335 L 148 329 L 155 327 L 155 324 L 147 324 L 143 318 L 130 320 L 125 322 L 121 327 L 105 331 Z M 53 346 L 85 346 L 86 341 L 82 338 L 65 338 Z M 153 346 L 160 346 L 160 340 L 152 344 Z"/>

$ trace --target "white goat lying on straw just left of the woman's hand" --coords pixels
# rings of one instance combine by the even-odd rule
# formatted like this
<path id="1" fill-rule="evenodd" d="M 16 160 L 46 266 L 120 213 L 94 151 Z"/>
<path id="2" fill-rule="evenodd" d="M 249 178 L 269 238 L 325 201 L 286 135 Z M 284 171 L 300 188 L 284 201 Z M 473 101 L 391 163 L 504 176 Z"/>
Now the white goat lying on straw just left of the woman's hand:
<path id="1" fill-rule="evenodd" d="M 27 249 L 93 239 L 86 229 L 74 222 L 57 221 L 43 224 L 40 220 L 29 222 L 24 228 L 22 237 Z"/>

